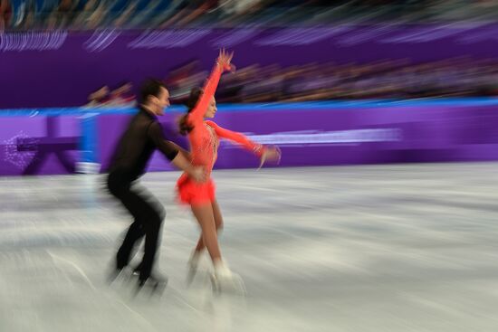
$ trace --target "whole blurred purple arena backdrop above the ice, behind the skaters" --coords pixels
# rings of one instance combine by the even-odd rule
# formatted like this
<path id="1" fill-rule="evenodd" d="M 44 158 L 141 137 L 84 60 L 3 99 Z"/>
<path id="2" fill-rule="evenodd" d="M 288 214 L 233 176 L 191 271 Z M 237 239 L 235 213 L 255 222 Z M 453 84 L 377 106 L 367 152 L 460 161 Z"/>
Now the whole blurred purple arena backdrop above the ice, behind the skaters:
<path id="1" fill-rule="evenodd" d="M 168 86 L 163 122 L 175 137 L 189 91 L 221 47 L 235 52 L 237 71 L 216 92 L 218 120 L 283 144 L 283 166 L 495 160 L 496 5 L 4 0 L 0 171 L 72 173 L 89 163 L 105 171 L 148 77 Z M 43 139 L 68 136 L 63 163 L 36 161 Z M 226 149 L 219 168 L 253 166 Z M 155 160 L 151 169 L 169 169 Z"/>

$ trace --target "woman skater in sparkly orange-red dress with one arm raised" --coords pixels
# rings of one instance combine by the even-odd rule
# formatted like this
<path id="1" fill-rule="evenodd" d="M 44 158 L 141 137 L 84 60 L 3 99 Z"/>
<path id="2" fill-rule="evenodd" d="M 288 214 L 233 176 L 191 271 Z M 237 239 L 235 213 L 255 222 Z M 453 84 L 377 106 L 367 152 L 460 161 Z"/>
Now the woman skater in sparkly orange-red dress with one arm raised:
<path id="1" fill-rule="evenodd" d="M 215 67 L 211 72 L 203 89 L 194 89 L 187 102 L 188 111 L 180 120 L 180 133 L 188 135 L 190 143 L 192 165 L 206 168 L 206 181 L 196 182 L 187 173 L 180 176 L 177 181 L 179 199 L 182 203 L 190 204 L 197 222 L 201 228 L 201 236 L 196 249 L 189 261 L 190 282 L 197 268 L 201 252 L 207 248 L 215 268 L 215 280 L 232 280 L 233 274 L 222 260 L 217 240 L 217 230 L 223 226 L 220 208 L 215 199 L 215 185 L 211 179 L 211 171 L 216 161 L 219 138 L 226 138 L 242 147 L 253 151 L 261 158 L 262 165 L 265 160 L 279 160 L 280 150 L 275 147 L 263 147 L 244 137 L 244 135 L 221 128 L 215 122 L 205 120 L 214 118 L 216 112 L 215 90 L 224 71 L 233 70 L 231 64 L 234 53 L 220 51 Z"/>

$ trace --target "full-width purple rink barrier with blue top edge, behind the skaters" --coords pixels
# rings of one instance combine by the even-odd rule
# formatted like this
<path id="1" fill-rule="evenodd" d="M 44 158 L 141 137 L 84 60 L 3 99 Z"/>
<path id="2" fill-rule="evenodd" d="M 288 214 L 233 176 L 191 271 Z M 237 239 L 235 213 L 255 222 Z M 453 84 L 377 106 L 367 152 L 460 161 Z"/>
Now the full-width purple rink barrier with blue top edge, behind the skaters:
<path id="1" fill-rule="evenodd" d="M 186 146 L 172 133 L 181 110 L 160 121 L 168 138 Z M 0 174 L 72 173 L 78 161 L 105 172 L 131 111 L 0 113 Z M 498 160 L 498 100 L 222 105 L 215 122 L 281 147 L 280 166 Z M 250 152 L 222 141 L 215 168 L 256 166 Z M 169 169 L 158 153 L 148 166 Z"/>

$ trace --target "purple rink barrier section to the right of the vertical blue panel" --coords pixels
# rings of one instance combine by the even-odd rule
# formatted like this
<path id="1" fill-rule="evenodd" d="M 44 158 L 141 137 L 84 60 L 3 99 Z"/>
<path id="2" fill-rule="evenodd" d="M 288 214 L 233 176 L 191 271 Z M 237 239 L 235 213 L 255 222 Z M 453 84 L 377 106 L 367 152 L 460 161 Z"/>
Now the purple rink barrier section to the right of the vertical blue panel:
<path id="1" fill-rule="evenodd" d="M 222 106 L 215 122 L 257 142 L 281 147 L 280 166 L 498 160 L 494 105 L 346 104 Z M 168 114 L 165 127 L 174 127 L 180 114 Z M 124 127 L 126 122 L 120 118 L 98 119 L 102 170 L 109 166 L 116 134 L 122 130 L 116 126 Z M 256 166 L 258 160 L 251 153 L 222 141 L 215 168 Z M 149 169 L 170 167 L 156 154 Z"/>

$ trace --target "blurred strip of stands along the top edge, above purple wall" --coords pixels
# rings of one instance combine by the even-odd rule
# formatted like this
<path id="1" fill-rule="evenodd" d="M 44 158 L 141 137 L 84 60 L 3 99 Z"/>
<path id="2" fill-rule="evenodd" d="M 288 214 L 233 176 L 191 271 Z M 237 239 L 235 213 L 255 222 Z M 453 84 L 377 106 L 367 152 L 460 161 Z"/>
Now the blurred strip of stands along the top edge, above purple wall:
<path id="1" fill-rule="evenodd" d="M 496 0 L 0 0 L 0 30 L 494 20 Z"/>

